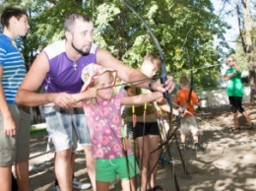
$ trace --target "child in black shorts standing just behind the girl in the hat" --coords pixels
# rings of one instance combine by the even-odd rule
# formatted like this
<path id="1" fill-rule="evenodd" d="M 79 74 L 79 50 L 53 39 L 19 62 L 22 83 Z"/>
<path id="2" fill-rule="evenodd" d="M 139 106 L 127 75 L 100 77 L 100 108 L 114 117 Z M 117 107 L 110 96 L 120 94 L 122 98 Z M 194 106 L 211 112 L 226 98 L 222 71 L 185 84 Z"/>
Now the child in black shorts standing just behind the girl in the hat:
<path id="1" fill-rule="evenodd" d="M 159 70 L 160 58 L 153 54 L 146 55 L 141 65 L 141 72 L 147 77 L 153 78 Z M 131 86 L 126 86 L 125 89 L 128 92 L 128 96 L 151 93 L 149 90 L 139 89 Z M 143 190 L 151 188 L 155 189 L 157 186 L 156 179 L 158 167 L 155 165 L 158 163 L 160 155 L 159 151 L 157 150 L 160 144 L 160 130 L 157 110 L 154 102 L 146 103 L 146 107 L 145 104 L 142 104 L 135 106 L 134 109 L 132 106 L 126 106 L 126 117 L 124 119 L 127 126 L 127 135 L 128 137 L 131 137 L 131 134 L 133 134 L 133 138 L 135 139 L 139 149 L 139 166 L 141 170 L 141 186 Z M 133 114 L 135 114 L 137 118 L 135 127 L 133 124 Z"/>

